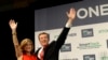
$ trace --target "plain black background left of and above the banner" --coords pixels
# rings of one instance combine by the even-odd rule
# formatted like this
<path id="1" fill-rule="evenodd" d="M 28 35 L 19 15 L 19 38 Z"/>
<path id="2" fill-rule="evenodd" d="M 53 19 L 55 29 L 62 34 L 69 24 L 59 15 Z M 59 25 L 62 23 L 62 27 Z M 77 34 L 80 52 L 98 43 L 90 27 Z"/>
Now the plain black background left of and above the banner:
<path id="1" fill-rule="evenodd" d="M 11 18 L 18 22 L 17 36 L 19 42 L 25 38 L 35 41 L 35 10 L 82 0 L 32 0 L 29 3 L 27 3 L 28 0 L 24 0 L 23 2 L 26 3 L 16 3 L 17 1 L 23 0 L 0 0 L 0 60 L 16 60 L 11 29 L 9 27 Z"/>

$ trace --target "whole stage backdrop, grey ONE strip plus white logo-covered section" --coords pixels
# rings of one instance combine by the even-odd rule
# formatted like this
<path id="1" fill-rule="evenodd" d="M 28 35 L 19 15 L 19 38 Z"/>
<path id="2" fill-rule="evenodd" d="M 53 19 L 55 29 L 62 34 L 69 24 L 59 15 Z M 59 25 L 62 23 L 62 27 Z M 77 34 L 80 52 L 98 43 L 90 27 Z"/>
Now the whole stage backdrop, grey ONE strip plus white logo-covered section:
<path id="1" fill-rule="evenodd" d="M 36 10 L 35 50 L 41 47 L 40 32 L 50 33 L 50 43 L 56 41 L 70 8 L 76 9 L 77 17 L 59 49 L 59 60 L 108 60 L 108 0 L 83 0 Z"/>

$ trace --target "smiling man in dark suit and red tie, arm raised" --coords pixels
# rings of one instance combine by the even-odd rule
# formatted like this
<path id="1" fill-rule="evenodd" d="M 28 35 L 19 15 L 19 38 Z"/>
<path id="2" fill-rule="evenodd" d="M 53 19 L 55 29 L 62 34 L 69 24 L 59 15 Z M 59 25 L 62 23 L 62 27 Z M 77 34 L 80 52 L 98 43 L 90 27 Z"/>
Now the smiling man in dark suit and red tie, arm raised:
<path id="1" fill-rule="evenodd" d="M 53 41 L 51 44 L 49 44 L 49 33 L 42 32 L 38 35 L 39 42 L 42 46 L 36 51 L 36 56 L 38 56 L 39 60 L 58 60 L 58 51 L 60 47 L 64 45 L 67 34 L 70 30 L 71 24 L 73 22 L 76 17 L 75 9 L 70 9 L 70 11 L 67 12 L 67 24 L 64 27 L 62 33 L 59 34 L 57 41 Z"/>

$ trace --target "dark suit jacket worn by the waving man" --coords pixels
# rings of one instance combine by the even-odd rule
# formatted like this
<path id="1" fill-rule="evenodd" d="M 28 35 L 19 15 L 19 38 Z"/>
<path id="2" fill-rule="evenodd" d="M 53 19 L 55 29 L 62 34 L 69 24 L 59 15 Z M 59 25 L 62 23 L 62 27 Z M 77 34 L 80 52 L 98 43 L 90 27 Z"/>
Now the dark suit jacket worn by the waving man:
<path id="1" fill-rule="evenodd" d="M 67 34 L 69 32 L 70 28 L 64 28 L 62 33 L 59 34 L 57 41 L 53 41 L 49 46 L 44 49 L 44 59 L 43 60 L 58 60 L 58 51 L 64 45 L 65 40 L 67 38 Z M 36 51 L 36 56 L 38 56 L 38 51 L 40 48 Z"/>

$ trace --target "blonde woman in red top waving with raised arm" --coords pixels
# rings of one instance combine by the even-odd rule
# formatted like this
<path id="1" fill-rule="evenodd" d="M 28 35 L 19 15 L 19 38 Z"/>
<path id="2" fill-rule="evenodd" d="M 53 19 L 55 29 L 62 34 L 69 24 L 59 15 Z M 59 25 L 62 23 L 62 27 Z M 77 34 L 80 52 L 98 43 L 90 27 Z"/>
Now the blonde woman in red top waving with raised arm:
<path id="1" fill-rule="evenodd" d="M 19 45 L 16 33 L 17 22 L 15 22 L 14 19 L 11 19 L 9 21 L 9 25 L 12 30 L 13 44 L 15 47 L 15 54 L 17 60 L 38 60 L 32 52 L 33 50 L 32 41 L 30 39 L 24 39 Z"/>

